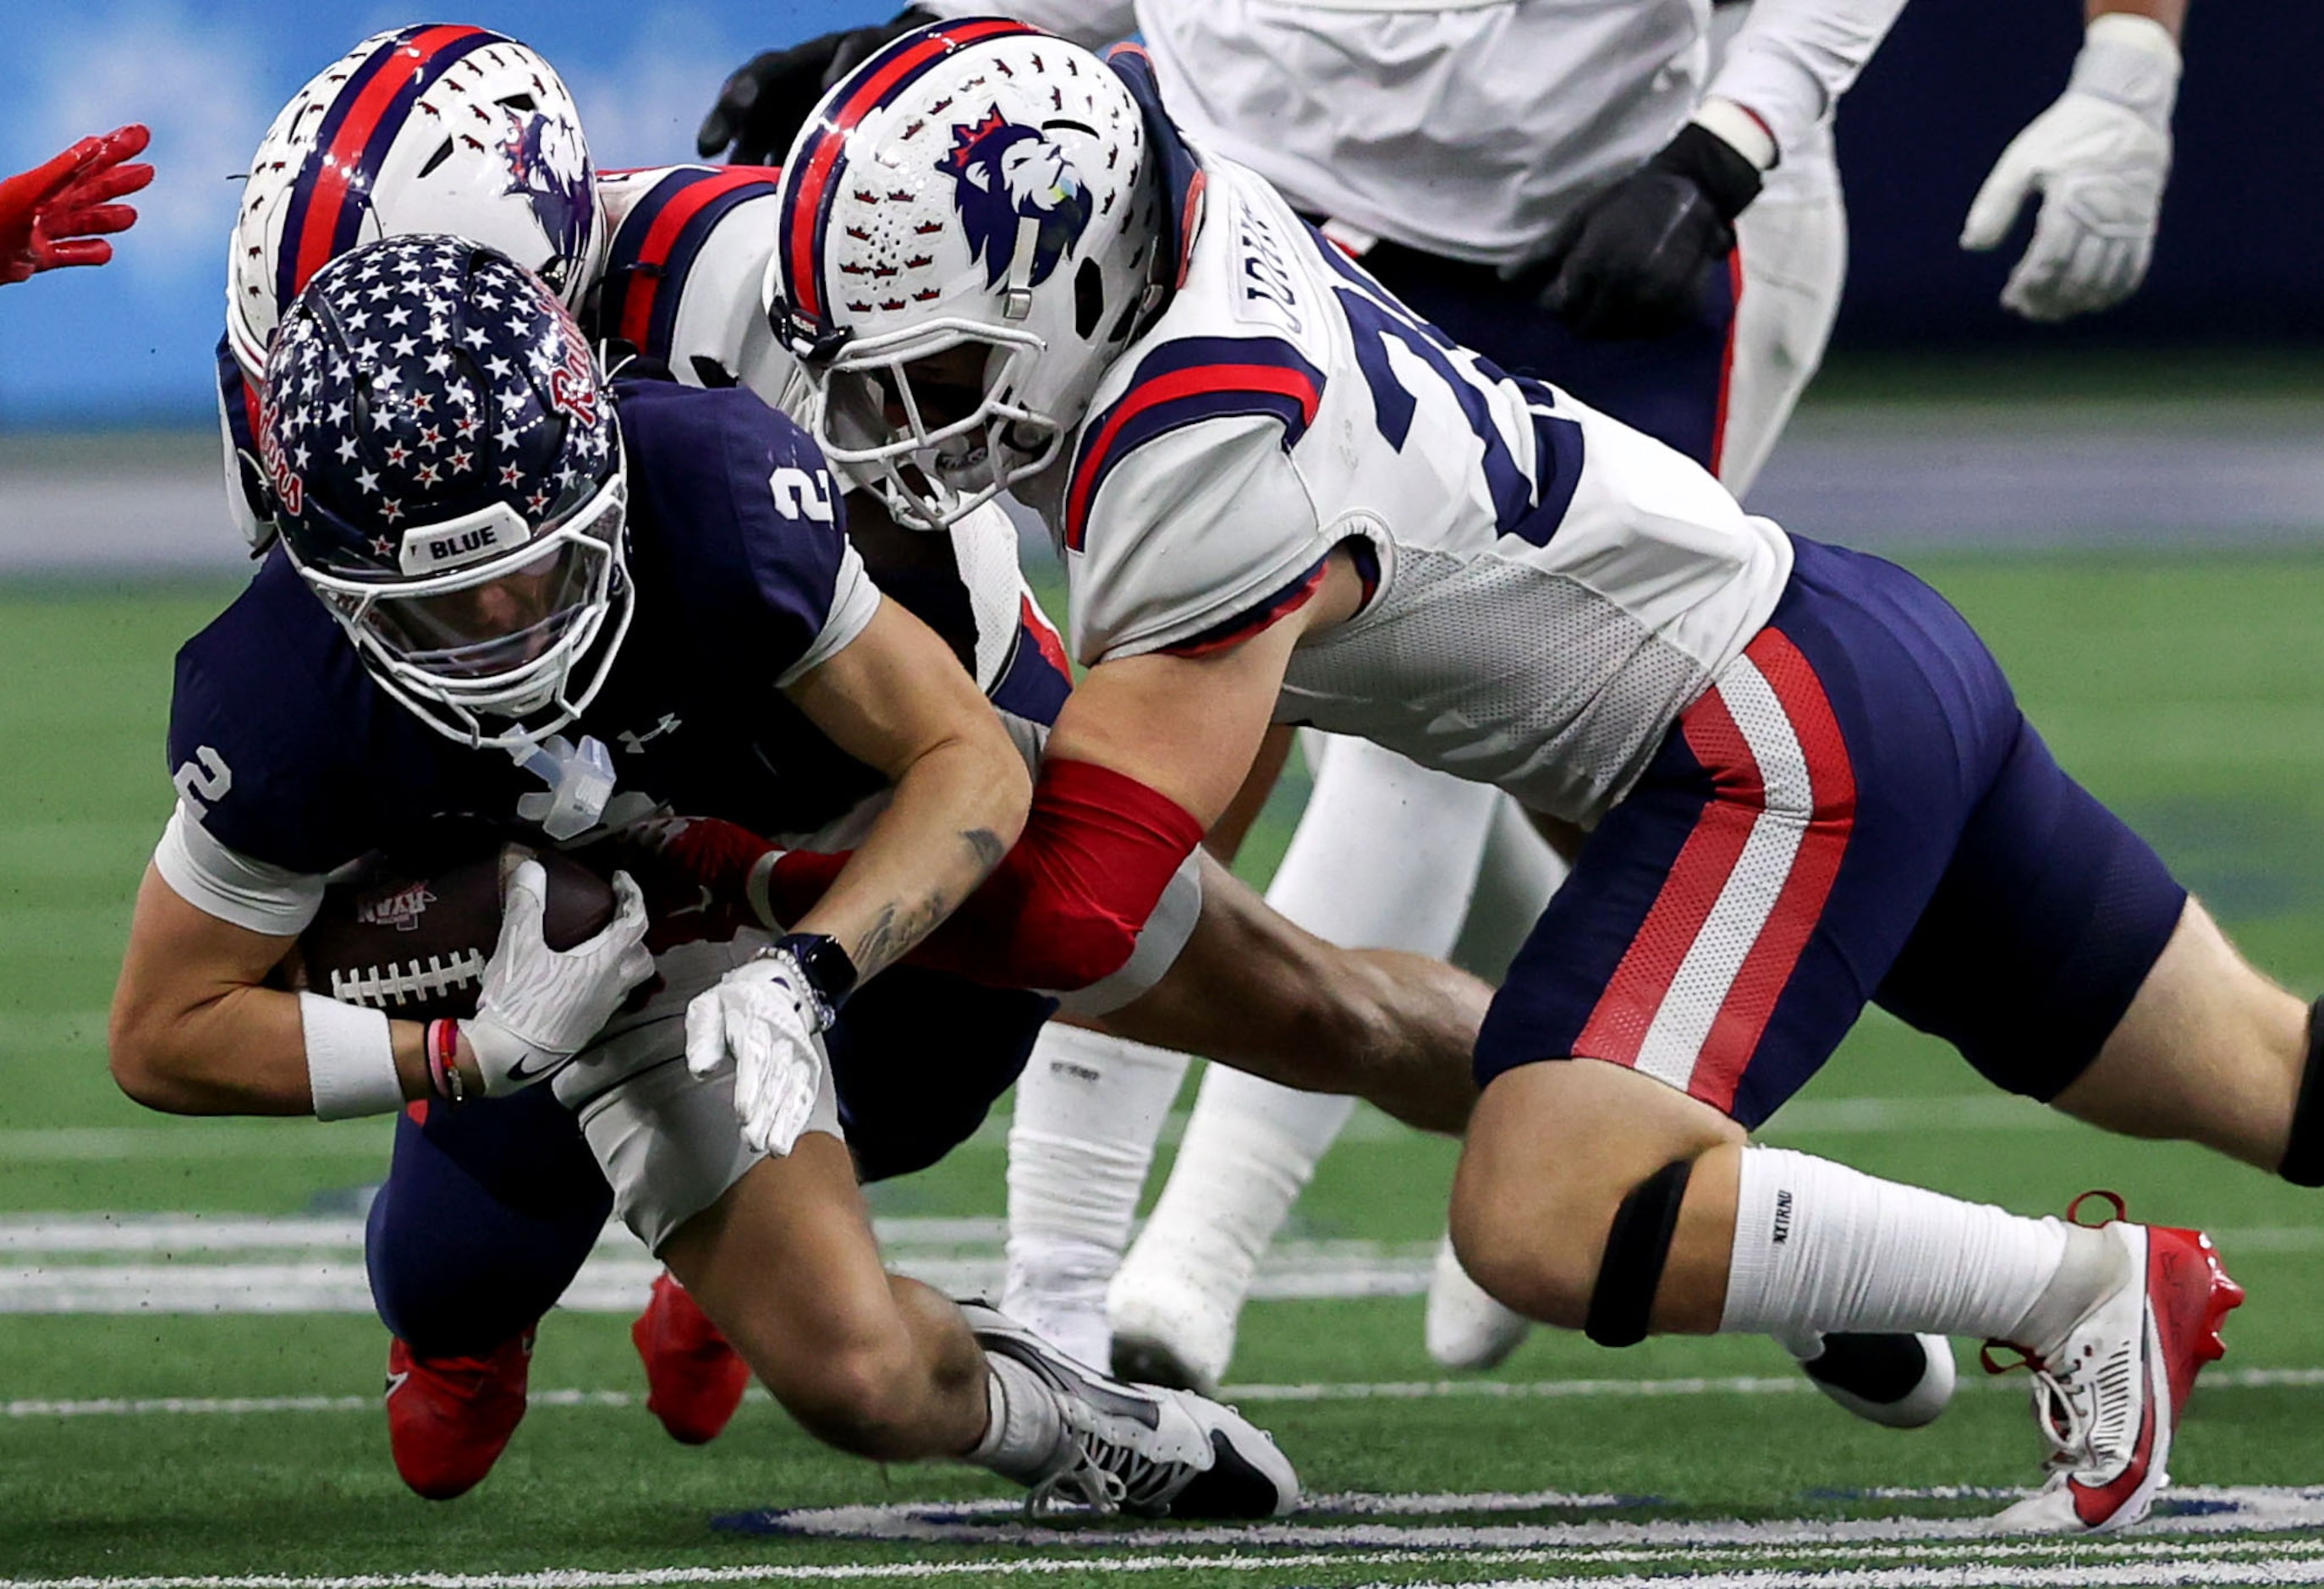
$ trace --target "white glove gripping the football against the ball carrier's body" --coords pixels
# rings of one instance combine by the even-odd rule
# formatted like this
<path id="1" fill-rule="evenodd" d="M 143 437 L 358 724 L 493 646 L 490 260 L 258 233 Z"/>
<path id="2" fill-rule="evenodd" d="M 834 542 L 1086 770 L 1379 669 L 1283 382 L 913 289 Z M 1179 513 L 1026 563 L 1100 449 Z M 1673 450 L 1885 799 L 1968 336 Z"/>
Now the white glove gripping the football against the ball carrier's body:
<path id="1" fill-rule="evenodd" d="M 560 1071 L 614 1018 L 630 990 L 653 976 L 646 899 L 627 871 L 614 873 L 614 920 L 569 950 L 553 950 L 541 939 L 546 892 L 539 862 L 528 860 L 509 873 L 500 943 L 483 964 L 476 1013 L 460 1022 L 488 1099 Z"/>

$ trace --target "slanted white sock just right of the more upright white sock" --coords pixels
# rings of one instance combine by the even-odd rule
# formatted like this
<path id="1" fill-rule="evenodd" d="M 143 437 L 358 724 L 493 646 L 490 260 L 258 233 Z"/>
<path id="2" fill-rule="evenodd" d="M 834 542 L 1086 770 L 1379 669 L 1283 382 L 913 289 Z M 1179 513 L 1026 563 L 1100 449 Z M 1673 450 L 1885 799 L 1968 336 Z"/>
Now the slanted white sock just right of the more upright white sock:
<path id="1" fill-rule="evenodd" d="M 1355 1099 L 1292 1092 L 1213 1064 L 1162 1199 L 1122 1261 L 1122 1285 L 1190 1278 L 1234 1317 L 1260 1257 L 1350 1113 Z"/>

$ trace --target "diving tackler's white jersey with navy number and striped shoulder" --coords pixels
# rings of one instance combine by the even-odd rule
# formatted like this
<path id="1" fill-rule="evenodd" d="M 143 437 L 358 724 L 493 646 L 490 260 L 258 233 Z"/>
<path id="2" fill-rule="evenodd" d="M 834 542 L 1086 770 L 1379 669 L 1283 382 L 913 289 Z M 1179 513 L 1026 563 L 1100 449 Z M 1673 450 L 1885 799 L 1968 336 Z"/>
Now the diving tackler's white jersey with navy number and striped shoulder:
<path id="1" fill-rule="evenodd" d="M 1034 492 L 1074 653 L 1229 643 L 1353 544 L 1376 590 L 1292 655 L 1276 718 L 1597 822 L 1766 623 L 1789 539 L 1450 344 L 1255 172 L 1206 172 L 1185 286 Z"/>

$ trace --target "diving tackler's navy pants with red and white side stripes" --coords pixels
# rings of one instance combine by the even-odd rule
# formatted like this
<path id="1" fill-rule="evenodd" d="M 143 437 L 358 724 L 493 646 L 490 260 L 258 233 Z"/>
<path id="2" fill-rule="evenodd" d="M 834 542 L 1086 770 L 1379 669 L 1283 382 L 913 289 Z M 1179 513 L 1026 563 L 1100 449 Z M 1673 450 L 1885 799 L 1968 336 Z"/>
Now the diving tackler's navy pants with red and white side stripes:
<path id="1" fill-rule="evenodd" d="M 1478 1083 L 1627 1064 L 1757 1127 L 1866 1004 L 2052 1099 L 2187 892 L 2050 757 L 1968 623 L 1794 537 L 1773 618 L 1583 843 L 1478 1036 Z"/>

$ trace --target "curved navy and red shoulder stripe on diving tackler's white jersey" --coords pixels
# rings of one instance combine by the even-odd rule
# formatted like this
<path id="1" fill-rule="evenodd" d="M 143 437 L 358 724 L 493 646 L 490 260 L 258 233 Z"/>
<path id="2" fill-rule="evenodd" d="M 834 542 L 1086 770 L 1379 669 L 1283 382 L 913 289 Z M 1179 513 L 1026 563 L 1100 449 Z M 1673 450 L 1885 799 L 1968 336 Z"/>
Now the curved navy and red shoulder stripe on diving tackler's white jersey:
<path id="1" fill-rule="evenodd" d="M 1064 490 L 1067 551 L 1081 551 L 1097 488 L 1141 444 L 1222 414 L 1262 414 L 1283 423 L 1287 453 L 1320 402 L 1322 369 L 1281 337 L 1164 341 L 1139 362 L 1129 390 L 1081 430 Z"/>

